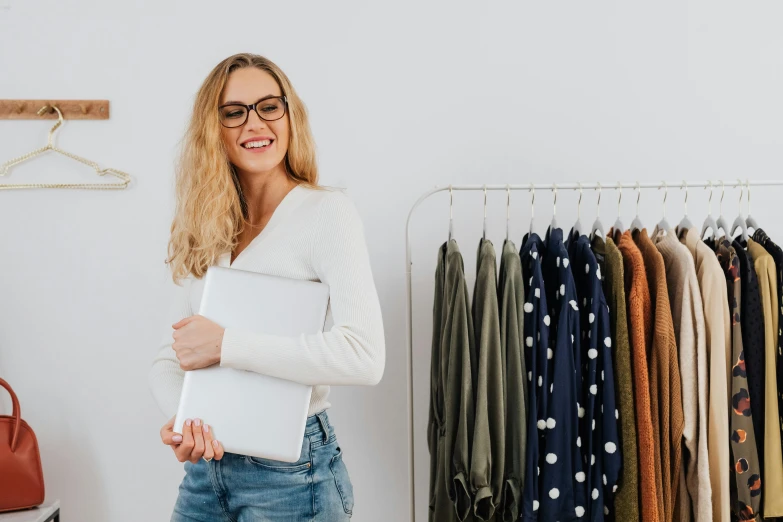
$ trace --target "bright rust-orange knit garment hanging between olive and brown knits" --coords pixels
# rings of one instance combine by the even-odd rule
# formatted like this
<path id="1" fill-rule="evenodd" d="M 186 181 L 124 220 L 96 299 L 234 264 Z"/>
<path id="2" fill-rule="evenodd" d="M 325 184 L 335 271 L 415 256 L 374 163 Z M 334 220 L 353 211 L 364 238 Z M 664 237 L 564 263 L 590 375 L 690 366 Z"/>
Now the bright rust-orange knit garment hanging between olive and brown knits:
<path id="1" fill-rule="evenodd" d="M 612 231 L 610 231 L 612 234 Z M 636 433 L 639 448 L 639 484 L 642 503 L 642 521 L 658 522 L 664 520 L 659 507 L 663 494 L 658 485 L 660 465 L 656 470 L 655 439 L 650 404 L 650 382 L 647 370 L 647 331 L 652 327 L 652 309 L 650 289 L 647 285 L 642 253 L 634 244 L 631 233 L 625 231 L 615 235 L 615 243 L 623 256 L 625 272 L 625 293 L 628 307 L 628 333 L 631 341 L 631 360 L 634 377 L 634 405 L 636 407 Z M 656 475 L 657 473 L 657 475 Z"/>

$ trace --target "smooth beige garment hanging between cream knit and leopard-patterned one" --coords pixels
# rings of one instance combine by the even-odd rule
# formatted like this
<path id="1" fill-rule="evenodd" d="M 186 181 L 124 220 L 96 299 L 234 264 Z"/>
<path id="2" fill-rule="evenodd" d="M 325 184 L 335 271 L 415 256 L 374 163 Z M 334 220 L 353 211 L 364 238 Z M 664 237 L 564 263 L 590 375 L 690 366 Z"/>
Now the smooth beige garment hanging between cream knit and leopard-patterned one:
<path id="1" fill-rule="evenodd" d="M 709 374 L 707 451 L 712 487 L 712 514 L 715 522 L 731 522 L 729 397 L 728 380 L 731 367 L 731 323 L 726 276 L 715 252 L 699 237 L 699 230 L 681 231 L 680 241 L 688 248 L 696 266 L 696 277 L 704 307 Z"/>

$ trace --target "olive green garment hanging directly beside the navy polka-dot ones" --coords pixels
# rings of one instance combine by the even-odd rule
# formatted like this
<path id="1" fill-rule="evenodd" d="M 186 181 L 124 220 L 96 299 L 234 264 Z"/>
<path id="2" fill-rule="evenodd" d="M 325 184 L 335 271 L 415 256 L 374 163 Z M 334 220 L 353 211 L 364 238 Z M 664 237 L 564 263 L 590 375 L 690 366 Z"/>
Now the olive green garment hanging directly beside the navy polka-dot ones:
<path id="1" fill-rule="evenodd" d="M 499 507 L 501 520 L 517 520 L 521 513 L 527 448 L 526 380 L 524 357 L 525 284 L 522 264 L 512 241 L 503 243 L 498 276 L 501 352 L 506 355 L 505 477 Z"/>

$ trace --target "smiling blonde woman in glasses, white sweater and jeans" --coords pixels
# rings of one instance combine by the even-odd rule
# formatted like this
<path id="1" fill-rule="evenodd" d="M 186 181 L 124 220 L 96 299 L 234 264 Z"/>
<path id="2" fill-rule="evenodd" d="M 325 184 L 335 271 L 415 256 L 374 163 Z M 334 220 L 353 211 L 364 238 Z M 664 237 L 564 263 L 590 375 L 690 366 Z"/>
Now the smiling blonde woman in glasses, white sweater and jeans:
<path id="1" fill-rule="evenodd" d="M 161 438 L 185 462 L 172 521 L 351 516 L 353 488 L 326 414 L 329 385 L 380 380 L 383 324 L 362 222 L 342 192 L 317 178 L 307 112 L 286 75 L 252 54 L 218 64 L 196 96 L 176 179 L 167 263 L 175 282 L 186 282 L 182 319 L 150 372 L 172 417 Z M 327 283 L 334 326 L 280 337 L 193 315 L 191 290 L 213 264 Z M 224 454 L 206 419 L 173 433 L 183 371 L 213 364 L 313 385 L 299 461 Z"/>

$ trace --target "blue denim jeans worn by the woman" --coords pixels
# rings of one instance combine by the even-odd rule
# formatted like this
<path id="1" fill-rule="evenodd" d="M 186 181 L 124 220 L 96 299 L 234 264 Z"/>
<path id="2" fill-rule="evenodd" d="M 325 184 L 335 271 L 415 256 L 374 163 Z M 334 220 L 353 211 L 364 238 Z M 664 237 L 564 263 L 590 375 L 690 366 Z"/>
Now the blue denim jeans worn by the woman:
<path id="1" fill-rule="evenodd" d="M 341 522 L 351 518 L 353 486 L 326 412 L 307 418 L 293 463 L 226 453 L 185 463 L 171 522 Z"/>

